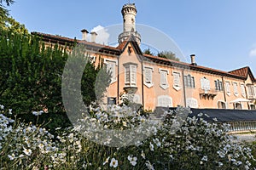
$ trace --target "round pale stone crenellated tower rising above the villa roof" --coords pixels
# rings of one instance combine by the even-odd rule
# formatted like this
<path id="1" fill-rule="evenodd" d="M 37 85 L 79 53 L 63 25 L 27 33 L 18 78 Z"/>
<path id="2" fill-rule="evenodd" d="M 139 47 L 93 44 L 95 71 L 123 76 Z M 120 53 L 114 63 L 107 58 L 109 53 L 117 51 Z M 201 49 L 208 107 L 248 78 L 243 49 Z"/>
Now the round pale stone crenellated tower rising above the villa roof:
<path id="1" fill-rule="evenodd" d="M 136 14 L 137 8 L 135 3 L 127 3 L 123 6 L 123 32 L 119 34 L 119 43 L 124 42 L 125 39 L 133 35 L 138 44 L 141 43 L 141 35 L 136 31 Z"/>

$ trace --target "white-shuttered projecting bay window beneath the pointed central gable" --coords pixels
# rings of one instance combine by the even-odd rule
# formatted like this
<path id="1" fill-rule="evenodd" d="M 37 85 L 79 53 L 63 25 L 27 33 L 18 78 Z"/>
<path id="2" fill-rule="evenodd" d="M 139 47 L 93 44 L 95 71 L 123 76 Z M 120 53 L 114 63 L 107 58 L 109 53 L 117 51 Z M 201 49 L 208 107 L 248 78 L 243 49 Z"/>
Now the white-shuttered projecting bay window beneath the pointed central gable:
<path id="1" fill-rule="evenodd" d="M 137 64 L 125 65 L 125 86 L 126 87 L 137 86 Z"/>

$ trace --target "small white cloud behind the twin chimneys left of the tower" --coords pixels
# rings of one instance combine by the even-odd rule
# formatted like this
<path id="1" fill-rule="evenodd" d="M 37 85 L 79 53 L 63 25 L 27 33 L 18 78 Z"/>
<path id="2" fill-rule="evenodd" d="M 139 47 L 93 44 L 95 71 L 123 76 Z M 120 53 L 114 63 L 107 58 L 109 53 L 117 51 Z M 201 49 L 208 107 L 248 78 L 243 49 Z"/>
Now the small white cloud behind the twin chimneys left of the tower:
<path id="1" fill-rule="evenodd" d="M 103 26 L 96 26 L 90 32 L 93 31 L 97 33 L 96 43 L 101 43 L 105 45 L 108 44 L 109 33 L 106 28 L 104 28 Z M 90 35 L 88 36 L 88 39 L 90 41 Z"/>

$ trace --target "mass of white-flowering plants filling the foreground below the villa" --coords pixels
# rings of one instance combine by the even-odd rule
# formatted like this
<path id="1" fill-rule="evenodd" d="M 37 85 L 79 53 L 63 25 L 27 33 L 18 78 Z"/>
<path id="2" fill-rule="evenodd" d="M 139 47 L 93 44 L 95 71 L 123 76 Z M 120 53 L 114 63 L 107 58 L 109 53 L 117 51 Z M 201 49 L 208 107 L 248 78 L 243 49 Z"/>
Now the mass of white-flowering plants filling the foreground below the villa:
<path id="1" fill-rule="evenodd" d="M 1 106 L 1 105 L 0 105 Z M 250 148 L 235 143 L 228 124 L 183 117 L 189 109 L 166 111 L 152 123 L 154 133 L 136 144 L 114 148 L 84 138 L 78 129 L 55 129 L 53 136 L 44 128 L 15 122 L 11 111 L 1 106 L 1 169 L 252 169 Z M 32 112 L 41 116 L 44 112 Z M 125 130 L 150 120 L 150 116 L 128 107 L 90 108 L 91 121 L 102 127 Z M 124 116 L 124 114 L 130 114 Z M 79 124 L 78 124 L 79 125 Z M 80 124 L 81 125 L 81 124 Z M 142 132 L 143 133 L 143 132 Z"/>

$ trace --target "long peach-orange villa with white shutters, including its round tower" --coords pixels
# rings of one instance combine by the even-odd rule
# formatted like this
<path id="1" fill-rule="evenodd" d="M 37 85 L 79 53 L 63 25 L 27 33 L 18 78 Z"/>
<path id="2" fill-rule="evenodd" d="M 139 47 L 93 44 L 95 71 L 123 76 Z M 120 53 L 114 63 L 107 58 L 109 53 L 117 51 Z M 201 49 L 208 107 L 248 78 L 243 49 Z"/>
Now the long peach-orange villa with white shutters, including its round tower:
<path id="1" fill-rule="evenodd" d="M 91 32 L 91 42 L 82 39 L 59 37 L 32 32 L 47 44 L 60 45 L 84 43 L 86 51 L 97 65 L 103 59 L 112 79 L 106 93 L 105 103 L 119 104 L 122 94 L 133 94 L 134 102 L 148 111 L 157 106 L 211 109 L 255 110 L 256 79 L 249 67 L 234 71 L 219 71 L 197 65 L 195 54 L 191 62 L 143 54 L 141 36 L 136 31 L 137 8 L 134 3 L 122 8 L 124 31 L 119 35 L 118 47 L 96 43 L 96 32 Z"/>

